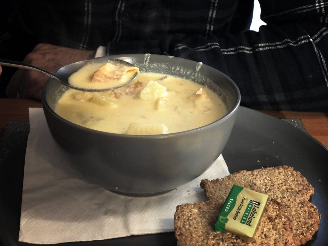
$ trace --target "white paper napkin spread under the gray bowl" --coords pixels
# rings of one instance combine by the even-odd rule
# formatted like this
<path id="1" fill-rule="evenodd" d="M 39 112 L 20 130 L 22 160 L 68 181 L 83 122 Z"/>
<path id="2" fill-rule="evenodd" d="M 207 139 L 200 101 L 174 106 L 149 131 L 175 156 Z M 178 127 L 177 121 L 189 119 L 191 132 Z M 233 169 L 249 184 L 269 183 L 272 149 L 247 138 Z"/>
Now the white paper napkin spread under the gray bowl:
<path id="1" fill-rule="evenodd" d="M 54 143 L 42 109 L 30 108 L 19 241 L 55 244 L 172 232 L 176 206 L 206 201 L 201 179 L 229 174 L 222 155 L 200 177 L 157 196 L 118 195 L 79 177 Z"/>

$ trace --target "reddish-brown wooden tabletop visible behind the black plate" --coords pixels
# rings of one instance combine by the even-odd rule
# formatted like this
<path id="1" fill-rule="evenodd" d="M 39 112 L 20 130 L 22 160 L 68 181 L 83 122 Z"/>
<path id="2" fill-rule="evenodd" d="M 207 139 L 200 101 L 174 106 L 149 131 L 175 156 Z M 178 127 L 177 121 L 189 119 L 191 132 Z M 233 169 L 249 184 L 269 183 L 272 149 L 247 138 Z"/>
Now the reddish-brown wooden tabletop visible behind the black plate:
<path id="1" fill-rule="evenodd" d="M 29 108 L 42 108 L 41 102 L 33 99 L 0 98 L 0 142 L 9 121 L 29 121 Z M 307 132 L 328 147 L 328 113 L 263 111 L 276 118 L 299 118 Z"/>

